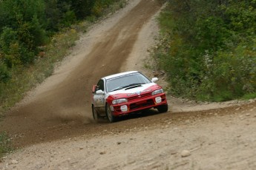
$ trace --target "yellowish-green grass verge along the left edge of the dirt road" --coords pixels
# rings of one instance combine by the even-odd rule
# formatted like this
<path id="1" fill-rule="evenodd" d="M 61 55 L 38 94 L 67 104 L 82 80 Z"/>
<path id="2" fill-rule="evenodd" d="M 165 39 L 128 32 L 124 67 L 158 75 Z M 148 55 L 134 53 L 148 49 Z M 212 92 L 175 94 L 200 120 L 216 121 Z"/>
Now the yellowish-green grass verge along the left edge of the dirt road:
<path id="1" fill-rule="evenodd" d="M 21 101 L 28 91 L 53 74 L 58 63 L 70 53 L 80 34 L 86 33 L 97 21 L 111 16 L 125 5 L 125 0 L 116 1 L 102 12 L 101 17 L 87 18 L 85 21 L 56 33 L 51 38 L 50 44 L 41 48 L 42 52 L 39 53 L 33 65 L 13 69 L 11 80 L 6 84 L 0 82 L 0 121 L 4 120 L 7 110 Z M 10 138 L 7 137 L 7 133 L 0 130 L 0 158 L 10 151 L 10 145 Z"/>

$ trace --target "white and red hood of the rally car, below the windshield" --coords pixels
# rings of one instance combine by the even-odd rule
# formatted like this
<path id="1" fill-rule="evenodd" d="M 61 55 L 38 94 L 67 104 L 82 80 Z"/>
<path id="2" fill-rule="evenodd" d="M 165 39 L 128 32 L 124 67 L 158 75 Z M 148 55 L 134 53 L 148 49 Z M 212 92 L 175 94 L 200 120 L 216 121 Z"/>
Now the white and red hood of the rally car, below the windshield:
<path id="1" fill-rule="evenodd" d="M 161 86 L 154 83 L 142 84 L 141 86 L 136 86 L 131 89 L 125 88 L 116 90 L 114 92 L 109 92 L 108 95 L 111 95 L 113 98 L 129 98 L 133 95 L 142 95 L 148 92 L 154 92 L 154 90 L 161 88 Z"/>

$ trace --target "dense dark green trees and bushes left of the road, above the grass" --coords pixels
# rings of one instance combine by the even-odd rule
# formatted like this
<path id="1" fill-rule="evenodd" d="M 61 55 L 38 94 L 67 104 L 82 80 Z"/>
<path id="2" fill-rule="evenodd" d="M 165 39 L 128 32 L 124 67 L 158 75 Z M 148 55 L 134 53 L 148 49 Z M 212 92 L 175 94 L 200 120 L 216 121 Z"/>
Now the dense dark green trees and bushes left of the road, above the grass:
<path id="1" fill-rule="evenodd" d="M 8 68 L 34 64 L 39 47 L 49 42 L 49 35 L 71 27 L 78 19 L 102 16 L 114 0 L 0 1 L 1 61 Z"/>

